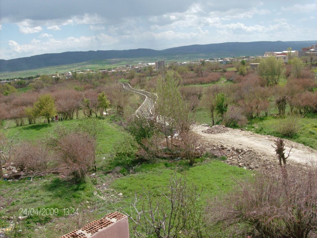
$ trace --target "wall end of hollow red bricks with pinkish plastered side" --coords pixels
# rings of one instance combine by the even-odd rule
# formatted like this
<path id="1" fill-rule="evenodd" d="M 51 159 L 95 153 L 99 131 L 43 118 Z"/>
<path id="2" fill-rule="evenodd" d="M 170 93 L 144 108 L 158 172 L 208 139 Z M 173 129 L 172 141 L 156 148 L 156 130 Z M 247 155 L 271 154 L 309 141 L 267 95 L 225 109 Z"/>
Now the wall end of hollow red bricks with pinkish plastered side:
<path id="1" fill-rule="evenodd" d="M 119 212 L 111 212 L 100 220 L 95 220 L 81 229 L 69 232 L 60 238 L 129 238 L 128 217 Z"/>

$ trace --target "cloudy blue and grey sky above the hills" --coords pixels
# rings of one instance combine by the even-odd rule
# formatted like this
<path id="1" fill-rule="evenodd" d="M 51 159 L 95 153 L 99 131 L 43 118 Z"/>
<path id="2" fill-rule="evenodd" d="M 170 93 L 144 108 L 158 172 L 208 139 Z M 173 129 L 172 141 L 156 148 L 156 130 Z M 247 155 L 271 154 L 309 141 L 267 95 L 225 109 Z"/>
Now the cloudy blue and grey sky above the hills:
<path id="1" fill-rule="evenodd" d="M 0 59 L 317 40 L 317 0 L 1 0 Z"/>

